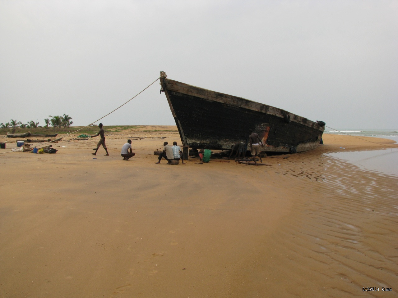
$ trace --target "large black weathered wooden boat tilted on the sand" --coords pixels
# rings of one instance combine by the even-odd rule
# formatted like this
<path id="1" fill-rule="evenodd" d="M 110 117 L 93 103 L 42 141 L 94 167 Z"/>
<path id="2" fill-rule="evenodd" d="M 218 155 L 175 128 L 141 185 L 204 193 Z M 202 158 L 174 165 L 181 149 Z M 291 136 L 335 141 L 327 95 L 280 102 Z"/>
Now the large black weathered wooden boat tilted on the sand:
<path id="1" fill-rule="evenodd" d="M 264 143 L 264 152 L 296 153 L 316 148 L 325 123 L 241 97 L 195 87 L 160 75 L 183 146 L 230 150 L 248 140 L 249 130 Z"/>

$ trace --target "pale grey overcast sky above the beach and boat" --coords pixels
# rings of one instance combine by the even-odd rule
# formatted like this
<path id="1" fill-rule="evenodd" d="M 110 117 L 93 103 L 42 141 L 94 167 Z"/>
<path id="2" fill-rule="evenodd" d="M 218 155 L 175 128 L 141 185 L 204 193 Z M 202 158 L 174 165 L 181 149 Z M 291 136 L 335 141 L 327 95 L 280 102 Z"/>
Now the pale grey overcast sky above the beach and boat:
<path id="1" fill-rule="evenodd" d="M 332 128 L 398 129 L 397 0 L 0 0 L 0 41 L 0 123 L 87 125 L 163 70 Z M 101 122 L 175 125 L 159 89 Z"/>

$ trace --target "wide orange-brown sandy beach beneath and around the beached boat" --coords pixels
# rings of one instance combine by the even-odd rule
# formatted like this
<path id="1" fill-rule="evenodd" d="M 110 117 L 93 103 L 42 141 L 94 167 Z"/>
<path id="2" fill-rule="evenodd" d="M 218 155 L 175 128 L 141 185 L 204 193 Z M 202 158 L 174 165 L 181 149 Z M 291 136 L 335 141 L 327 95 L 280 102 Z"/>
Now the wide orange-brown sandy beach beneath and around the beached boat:
<path id="1" fill-rule="evenodd" d="M 0 297 L 397 297 L 398 177 L 325 154 L 393 141 L 324 134 L 256 167 L 155 164 L 175 126 L 105 127 L 96 159 L 77 135 L 0 154 Z"/>

